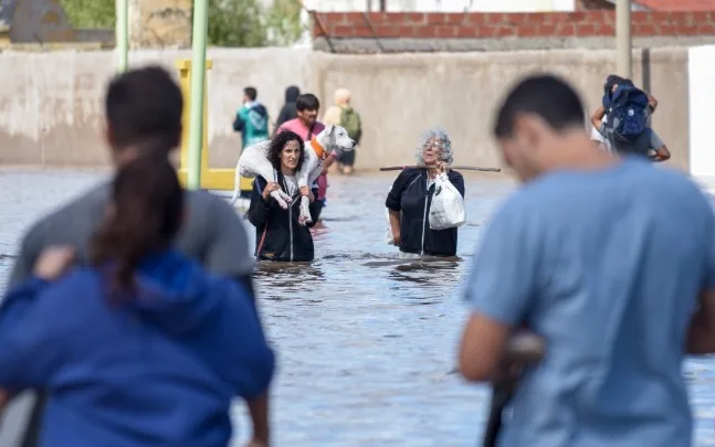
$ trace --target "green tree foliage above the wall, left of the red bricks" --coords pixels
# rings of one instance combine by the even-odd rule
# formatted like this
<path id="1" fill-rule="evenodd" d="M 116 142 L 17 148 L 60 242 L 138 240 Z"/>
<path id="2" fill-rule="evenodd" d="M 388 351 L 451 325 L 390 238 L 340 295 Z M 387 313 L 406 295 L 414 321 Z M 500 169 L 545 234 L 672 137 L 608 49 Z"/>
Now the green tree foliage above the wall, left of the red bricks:
<path id="1" fill-rule="evenodd" d="M 112 0 L 61 2 L 74 28 L 114 28 Z M 259 0 L 209 0 L 210 45 L 285 46 L 295 43 L 303 31 L 296 0 L 273 0 L 270 8 L 263 8 Z"/>

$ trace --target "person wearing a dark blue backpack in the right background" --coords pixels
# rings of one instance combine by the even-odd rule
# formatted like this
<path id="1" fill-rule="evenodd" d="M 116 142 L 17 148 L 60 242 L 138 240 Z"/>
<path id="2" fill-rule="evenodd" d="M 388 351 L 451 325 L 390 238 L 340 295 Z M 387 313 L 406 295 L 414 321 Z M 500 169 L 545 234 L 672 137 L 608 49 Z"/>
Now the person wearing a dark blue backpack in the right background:
<path id="1" fill-rule="evenodd" d="M 610 75 L 603 86 L 602 105 L 591 116 L 591 124 L 614 155 L 665 161 L 671 153 L 648 125 L 656 107 L 658 100 L 635 87 L 631 79 Z"/>

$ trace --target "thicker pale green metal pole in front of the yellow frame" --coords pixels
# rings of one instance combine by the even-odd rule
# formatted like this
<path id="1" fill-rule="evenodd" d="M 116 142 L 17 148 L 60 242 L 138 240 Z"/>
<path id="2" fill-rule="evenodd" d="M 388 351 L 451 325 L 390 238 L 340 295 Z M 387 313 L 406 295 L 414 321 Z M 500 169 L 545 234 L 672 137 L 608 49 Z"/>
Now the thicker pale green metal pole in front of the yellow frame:
<path id="1" fill-rule="evenodd" d="M 203 86 L 206 75 L 206 38 L 209 28 L 209 0 L 193 0 L 191 38 L 191 110 L 189 121 L 189 166 L 187 187 L 201 188 L 201 149 L 203 146 Z"/>

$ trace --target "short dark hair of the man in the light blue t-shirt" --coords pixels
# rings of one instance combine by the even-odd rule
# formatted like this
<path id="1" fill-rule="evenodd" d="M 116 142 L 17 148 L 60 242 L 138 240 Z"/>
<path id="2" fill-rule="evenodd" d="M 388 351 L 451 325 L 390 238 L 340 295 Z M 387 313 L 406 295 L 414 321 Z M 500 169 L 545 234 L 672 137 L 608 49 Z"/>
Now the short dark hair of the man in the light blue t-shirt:
<path id="1" fill-rule="evenodd" d="M 554 75 L 532 75 L 517 83 L 498 108 L 494 136 L 508 138 L 518 114 L 536 114 L 556 131 L 586 123 L 583 103 L 566 81 Z"/>

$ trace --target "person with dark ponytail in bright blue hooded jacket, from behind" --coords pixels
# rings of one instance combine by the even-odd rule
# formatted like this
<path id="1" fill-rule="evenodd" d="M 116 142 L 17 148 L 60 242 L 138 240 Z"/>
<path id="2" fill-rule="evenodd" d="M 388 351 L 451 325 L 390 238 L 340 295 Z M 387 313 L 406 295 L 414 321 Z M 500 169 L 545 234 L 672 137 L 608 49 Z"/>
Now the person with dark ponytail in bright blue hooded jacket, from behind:
<path id="1" fill-rule="evenodd" d="M 8 291 L 0 387 L 50 392 L 40 446 L 225 447 L 232 398 L 269 389 L 249 289 L 171 248 L 185 212 L 166 157 L 138 158 L 114 179 L 90 265 L 46 248 Z"/>

